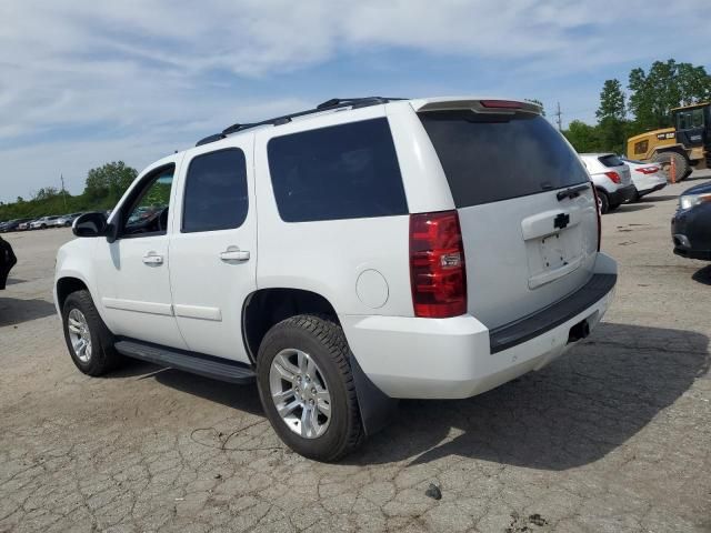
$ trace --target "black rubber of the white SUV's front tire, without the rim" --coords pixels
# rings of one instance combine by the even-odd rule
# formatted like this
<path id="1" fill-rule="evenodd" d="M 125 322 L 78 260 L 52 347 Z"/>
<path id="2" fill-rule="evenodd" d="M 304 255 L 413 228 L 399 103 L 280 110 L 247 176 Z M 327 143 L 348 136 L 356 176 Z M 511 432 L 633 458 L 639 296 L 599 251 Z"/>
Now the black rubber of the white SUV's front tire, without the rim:
<path id="1" fill-rule="evenodd" d="M 74 348 L 69 333 L 69 313 L 77 309 L 83 314 L 89 326 L 91 338 L 91 354 L 88 361 L 82 361 Z M 101 320 L 89 291 L 76 291 L 67 296 L 62 306 L 62 326 L 64 330 L 64 341 L 69 349 L 71 360 L 77 368 L 88 375 L 103 375 L 117 369 L 122 362 L 121 355 L 113 348 L 113 335 Z"/>

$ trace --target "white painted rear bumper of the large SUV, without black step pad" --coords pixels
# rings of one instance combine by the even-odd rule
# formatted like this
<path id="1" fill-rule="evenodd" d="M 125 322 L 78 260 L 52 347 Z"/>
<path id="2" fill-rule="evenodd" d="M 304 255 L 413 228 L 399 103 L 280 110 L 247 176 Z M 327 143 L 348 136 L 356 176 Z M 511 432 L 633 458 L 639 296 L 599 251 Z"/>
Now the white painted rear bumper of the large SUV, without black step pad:
<path id="1" fill-rule="evenodd" d="M 600 253 L 595 274 L 617 278 L 615 262 Z M 599 283 L 601 278 L 593 280 Z M 492 331 L 468 314 L 441 320 L 353 315 L 340 319 L 363 372 L 389 396 L 469 398 L 539 370 L 562 355 L 571 345 L 573 326 L 587 321 L 592 330 L 599 323 L 612 301 L 613 284 L 612 280 L 612 284 L 597 292 L 594 286 L 585 285 L 587 298 L 578 291 L 537 315 Z"/>

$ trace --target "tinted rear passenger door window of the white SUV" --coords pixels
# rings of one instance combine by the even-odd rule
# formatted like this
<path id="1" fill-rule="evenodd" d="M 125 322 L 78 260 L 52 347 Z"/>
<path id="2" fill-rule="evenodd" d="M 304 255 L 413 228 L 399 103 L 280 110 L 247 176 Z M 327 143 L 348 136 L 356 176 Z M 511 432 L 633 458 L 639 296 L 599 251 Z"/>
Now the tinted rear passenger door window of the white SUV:
<path id="1" fill-rule="evenodd" d="M 247 162 L 239 149 L 197 155 L 186 178 L 182 232 L 239 228 L 247 218 Z"/>

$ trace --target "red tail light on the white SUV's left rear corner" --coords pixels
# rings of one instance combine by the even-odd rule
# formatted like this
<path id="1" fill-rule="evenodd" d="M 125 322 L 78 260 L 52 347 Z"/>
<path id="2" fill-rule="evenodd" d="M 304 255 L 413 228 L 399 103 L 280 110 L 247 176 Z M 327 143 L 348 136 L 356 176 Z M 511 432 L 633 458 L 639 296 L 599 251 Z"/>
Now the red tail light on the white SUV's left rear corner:
<path id="1" fill-rule="evenodd" d="M 467 312 L 467 270 L 457 211 L 410 215 L 410 283 L 414 315 Z"/>

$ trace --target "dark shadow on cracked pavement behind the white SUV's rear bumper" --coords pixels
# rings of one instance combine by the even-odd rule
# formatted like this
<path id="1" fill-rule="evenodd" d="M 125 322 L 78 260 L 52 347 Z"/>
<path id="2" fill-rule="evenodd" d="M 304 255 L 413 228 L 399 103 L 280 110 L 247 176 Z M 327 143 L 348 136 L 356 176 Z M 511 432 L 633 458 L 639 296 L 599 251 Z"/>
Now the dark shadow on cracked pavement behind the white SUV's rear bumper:
<path id="1" fill-rule="evenodd" d="M 455 455 L 581 466 L 620 446 L 705 374 L 708 349 L 695 332 L 603 323 L 547 369 L 488 393 L 401 402 L 392 424 L 344 462 L 421 464 Z"/>

